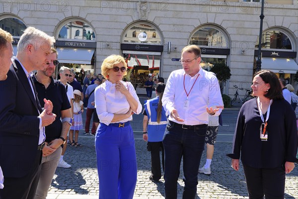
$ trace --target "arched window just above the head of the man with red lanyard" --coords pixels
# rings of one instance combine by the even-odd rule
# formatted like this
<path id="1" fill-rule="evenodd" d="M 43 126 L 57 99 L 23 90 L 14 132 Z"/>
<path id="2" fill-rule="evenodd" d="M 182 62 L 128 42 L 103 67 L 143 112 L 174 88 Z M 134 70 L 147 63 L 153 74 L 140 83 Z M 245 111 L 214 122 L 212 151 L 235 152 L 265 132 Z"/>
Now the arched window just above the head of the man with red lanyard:
<path id="1" fill-rule="evenodd" d="M 189 44 L 210 48 L 228 48 L 224 33 L 217 28 L 209 26 L 205 26 L 196 31 L 191 36 Z"/>

